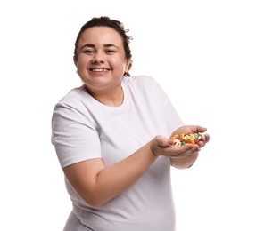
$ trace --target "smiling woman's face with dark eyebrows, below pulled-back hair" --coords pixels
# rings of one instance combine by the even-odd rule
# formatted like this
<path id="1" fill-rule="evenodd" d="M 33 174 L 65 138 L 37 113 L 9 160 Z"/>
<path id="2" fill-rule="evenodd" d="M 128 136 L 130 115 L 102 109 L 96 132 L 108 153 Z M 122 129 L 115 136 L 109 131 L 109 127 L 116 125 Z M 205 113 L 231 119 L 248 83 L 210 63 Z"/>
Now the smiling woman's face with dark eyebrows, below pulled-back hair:
<path id="1" fill-rule="evenodd" d="M 111 92 L 120 87 L 130 59 L 126 59 L 120 34 L 113 28 L 88 28 L 78 41 L 78 75 L 91 92 Z"/>

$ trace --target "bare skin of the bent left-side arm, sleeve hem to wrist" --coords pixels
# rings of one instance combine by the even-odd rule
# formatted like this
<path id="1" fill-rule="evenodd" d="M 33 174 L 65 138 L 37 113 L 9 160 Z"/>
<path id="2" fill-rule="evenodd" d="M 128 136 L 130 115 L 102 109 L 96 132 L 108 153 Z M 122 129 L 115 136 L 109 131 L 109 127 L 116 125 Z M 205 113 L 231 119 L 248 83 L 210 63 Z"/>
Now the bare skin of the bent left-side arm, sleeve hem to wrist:
<path id="1" fill-rule="evenodd" d="M 96 171 L 93 170 L 95 173 L 85 171 L 88 165 L 78 167 L 78 164 L 90 164 L 87 161 L 78 163 L 77 166 L 67 167 L 64 172 L 78 195 L 89 205 L 98 207 L 131 187 L 156 158 L 148 143 L 119 163 L 108 167 L 101 165 Z M 98 166 L 102 162 L 101 159 L 92 161 Z M 86 175 L 90 177 L 84 178 L 83 176 Z"/>

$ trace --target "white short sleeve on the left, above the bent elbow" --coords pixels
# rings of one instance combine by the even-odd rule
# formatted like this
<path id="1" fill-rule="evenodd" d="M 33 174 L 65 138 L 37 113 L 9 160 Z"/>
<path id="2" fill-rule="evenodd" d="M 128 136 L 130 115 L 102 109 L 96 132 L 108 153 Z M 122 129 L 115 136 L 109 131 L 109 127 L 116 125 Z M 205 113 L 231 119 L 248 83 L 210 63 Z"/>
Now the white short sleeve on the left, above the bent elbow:
<path id="1" fill-rule="evenodd" d="M 101 158 L 101 144 L 95 125 L 76 108 L 58 103 L 52 117 L 52 143 L 63 167 Z"/>

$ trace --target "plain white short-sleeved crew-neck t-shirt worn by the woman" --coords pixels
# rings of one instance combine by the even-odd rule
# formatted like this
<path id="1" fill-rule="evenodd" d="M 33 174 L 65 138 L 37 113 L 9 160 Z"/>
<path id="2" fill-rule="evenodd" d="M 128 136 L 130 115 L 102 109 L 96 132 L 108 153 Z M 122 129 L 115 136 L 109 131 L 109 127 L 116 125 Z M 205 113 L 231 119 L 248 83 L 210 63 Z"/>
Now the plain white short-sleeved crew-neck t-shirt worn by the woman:
<path id="1" fill-rule="evenodd" d="M 150 76 L 123 77 L 120 107 L 103 105 L 84 86 L 54 108 L 53 134 L 63 167 L 92 158 L 106 166 L 132 155 L 156 135 L 169 137 L 183 125 L 168 96 Z M 160 156 L 127 191 L 99 208 L 80 199 L 66 180 L 74 212 L 95 231 L 174 231 L 169 158 Z"/>

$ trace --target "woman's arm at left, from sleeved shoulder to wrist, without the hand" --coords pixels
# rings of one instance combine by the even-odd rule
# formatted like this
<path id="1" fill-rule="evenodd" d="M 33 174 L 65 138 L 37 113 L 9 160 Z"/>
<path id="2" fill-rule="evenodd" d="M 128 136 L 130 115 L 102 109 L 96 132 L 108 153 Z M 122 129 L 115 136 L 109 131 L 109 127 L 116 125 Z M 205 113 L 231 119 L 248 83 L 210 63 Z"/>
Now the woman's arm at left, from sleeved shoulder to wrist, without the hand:
<path id="1" fill-rule="evenodd" d="M 157 157 L 149 142 L 128 158 L 106 166 L 95 124 L 84 114 L 74 107 L 58 106 L 54 110 L 52 142 L 70 185 L 88 205 L 98 207 L 131 187 Z M 84 152 L 90 154 L 88 159 Z M 75 161 L 69 163 L 70 157 Z"/>

